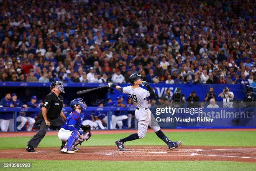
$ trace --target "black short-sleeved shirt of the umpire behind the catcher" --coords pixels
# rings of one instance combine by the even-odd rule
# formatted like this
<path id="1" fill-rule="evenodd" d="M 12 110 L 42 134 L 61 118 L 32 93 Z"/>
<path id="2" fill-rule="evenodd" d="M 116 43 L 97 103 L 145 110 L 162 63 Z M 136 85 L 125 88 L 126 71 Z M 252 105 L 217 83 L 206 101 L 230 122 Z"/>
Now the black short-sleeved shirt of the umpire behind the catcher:
<path id="1" fill-rule="evenodd" d="M 63 107 L 63 97 L 59 97 L 54 92 L 50 92 L 44 100 L 43 107 L 47 109 L 47 117 L 49 119 L 57 119 Z"/>

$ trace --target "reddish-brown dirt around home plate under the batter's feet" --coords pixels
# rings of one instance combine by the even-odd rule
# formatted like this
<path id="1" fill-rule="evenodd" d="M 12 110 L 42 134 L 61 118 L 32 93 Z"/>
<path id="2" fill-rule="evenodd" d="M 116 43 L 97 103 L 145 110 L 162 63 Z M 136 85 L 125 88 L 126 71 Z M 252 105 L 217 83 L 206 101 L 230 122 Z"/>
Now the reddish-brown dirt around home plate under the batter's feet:
<path id="1" fill-rule="evenodd" d="M 0 150 L 1 158 L 42 160 L 107 160 L 107 161 L 243 161 L 256 163 L 256 147 L 180 146 L 173 151 L 166 146 L 80 147 L 75 154 L 61 154 L 59 148 Z M 72 157 L 71 157 L 72 156 Z"/>

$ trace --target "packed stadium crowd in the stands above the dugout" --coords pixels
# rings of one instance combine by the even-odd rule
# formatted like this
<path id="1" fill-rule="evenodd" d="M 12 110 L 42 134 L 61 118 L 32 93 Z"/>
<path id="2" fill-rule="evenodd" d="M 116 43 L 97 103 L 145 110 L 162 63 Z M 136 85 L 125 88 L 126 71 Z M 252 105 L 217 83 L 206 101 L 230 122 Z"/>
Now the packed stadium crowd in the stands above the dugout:
<path id="1" fill-rule="evenodd" d="M 3 0 L 0 79 L 124 83 L 139 73 L 151 83 L 251 85 L 253 4 Z"/>

